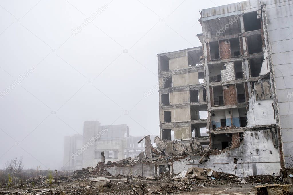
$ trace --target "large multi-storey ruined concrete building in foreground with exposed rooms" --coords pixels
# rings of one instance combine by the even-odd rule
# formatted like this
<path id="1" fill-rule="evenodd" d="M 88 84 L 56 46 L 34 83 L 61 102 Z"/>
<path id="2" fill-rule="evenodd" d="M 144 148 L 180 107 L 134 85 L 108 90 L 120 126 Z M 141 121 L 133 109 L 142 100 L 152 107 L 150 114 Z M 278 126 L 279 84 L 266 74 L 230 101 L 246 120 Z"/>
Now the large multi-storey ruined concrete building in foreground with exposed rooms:
<path id="1" fill-rule="evenodd" d="M 209 145 L 201 166 L 236 175 L 293 166 L 292 2 L 204 9 L 202 46 L 158 54 L 161 139 Z"/>

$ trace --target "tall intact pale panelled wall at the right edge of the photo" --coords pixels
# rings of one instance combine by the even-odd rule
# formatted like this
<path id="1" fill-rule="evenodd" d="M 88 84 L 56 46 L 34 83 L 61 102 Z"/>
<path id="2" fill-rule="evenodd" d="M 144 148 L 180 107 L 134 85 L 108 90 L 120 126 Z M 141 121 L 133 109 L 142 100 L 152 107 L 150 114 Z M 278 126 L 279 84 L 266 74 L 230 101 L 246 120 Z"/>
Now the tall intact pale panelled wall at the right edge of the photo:
<path id="1" fill-rule="evenodd" d="M 290 167 L 289 159 L 293 154 L 293 98 L 289 95 L 293 94 L 291 84 L 293 80 L 293 1 L 262 0 L 262 2 L 266 2 L 285 163 Z"/>

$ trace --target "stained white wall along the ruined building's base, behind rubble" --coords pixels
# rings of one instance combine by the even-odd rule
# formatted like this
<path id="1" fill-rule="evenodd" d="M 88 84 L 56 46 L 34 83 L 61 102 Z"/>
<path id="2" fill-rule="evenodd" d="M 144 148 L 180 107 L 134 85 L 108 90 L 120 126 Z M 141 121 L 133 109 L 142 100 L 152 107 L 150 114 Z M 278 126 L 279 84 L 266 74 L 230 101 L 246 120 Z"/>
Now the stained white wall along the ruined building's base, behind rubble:
<path id="1" fill-rule="evenodd" d="M 202 163 L 199 167 L 213 170 L 221 168 L 223 172 L 233 175 L 236 173 L 238 177 L 247 177 L 253 175 L 253 163 L 255 163 L 256 172 L 254 172 L 257 175 L 271 175 L 273 173 L 278 175 L 281 168 L 278 149 L 274 148 L 270 138 L 267 140 L 263 136 L 262 130 L 251 132 L 253 132 L 253 135 L 257 132 L 259 138 L 256 139 L 255 136 L 250 136 L 250 132 L 248 132 L 248 135 L 246 135 L 240 143 L 239 148 L 231 149 L 220 155 L 209 155 L 207 162 Z M 258 153 L 256 148 L 258 148 Z M 197 163 L 200 158 L 201 156 L 195 157 L 195 163 Z M 236 170 L 234 168 L 236 166 L 234 158 L 238 158 Z M 188 163 L 189 158 L 181 160 L 181 162 L 174 162 L 174 173 L 187 170 L 188 167 L 197 166 L 187 165 Z"/>

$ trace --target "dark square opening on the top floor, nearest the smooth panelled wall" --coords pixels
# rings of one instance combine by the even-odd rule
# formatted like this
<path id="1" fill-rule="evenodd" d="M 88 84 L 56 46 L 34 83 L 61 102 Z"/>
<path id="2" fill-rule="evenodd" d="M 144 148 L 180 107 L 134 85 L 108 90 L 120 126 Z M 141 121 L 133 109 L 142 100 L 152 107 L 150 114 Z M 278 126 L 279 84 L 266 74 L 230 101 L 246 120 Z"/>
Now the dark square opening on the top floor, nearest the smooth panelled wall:
<path id="1" fill-rule="evenodd" d="M 246 13 L 243 15 L 244 29 L 245 32 L 260 30 L 261 22 L 260 18 L 257 18 L 257 12 Z"/>

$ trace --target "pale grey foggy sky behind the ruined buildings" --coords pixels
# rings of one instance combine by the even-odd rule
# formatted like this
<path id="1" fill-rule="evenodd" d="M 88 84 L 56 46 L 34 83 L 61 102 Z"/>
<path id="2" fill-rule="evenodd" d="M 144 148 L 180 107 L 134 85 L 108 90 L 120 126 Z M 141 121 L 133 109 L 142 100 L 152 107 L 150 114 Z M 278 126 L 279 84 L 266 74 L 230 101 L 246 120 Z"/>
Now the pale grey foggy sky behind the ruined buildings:
<path id="1" fill-rule="evenodd" d="M 159 135 L 156 54 L 201 46 L 199 11 L 235 2 L 1 1 L 0 168 L 60 169 L 84 121 Z"/>

